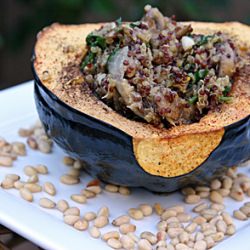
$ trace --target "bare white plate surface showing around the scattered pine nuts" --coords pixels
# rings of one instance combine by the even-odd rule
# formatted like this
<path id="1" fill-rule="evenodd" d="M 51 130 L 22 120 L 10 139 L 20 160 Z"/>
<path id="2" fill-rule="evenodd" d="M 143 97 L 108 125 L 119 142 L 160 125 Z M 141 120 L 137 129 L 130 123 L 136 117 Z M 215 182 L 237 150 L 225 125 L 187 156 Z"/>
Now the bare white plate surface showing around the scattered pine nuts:
<path id="1" fill-rule="evenodd" d="M 0 92 L 0 135 L 8 141 L 25 141 L 17 135 L 18 128 L 29 127 L 36 120 L 32 82 Z M 87 204 L 79 205 L 71 201 L 69 197 L 71 194 L 79 193 L 91 178 L 83 173 L 80 184 L 74 186 L 61 184 L 59 178 L 68 170 L 68 167 L 62 164 L 63 156 L 62 150 L 56 146 L 53 149 L 53 154 L 49 155 L 28 149 L 28 157 L 19 157 L 15 161 L 14 167 L 0 168 L 0 180 L 7 173 L 18 173 L 25 180 L 27 177 L 23 174 L 22 169 L 26 164 L 46 164 L 50 173 L 47 176 L 40 175 L 40 182 L 51 181 L 55 184 L 57 195 L 52 197 L 54 201 L 64 198 L 69 201 L 71 206 L 79 207 L 82 214 L 87 211 L 97 211 L 101 206 L 106 205 L 111 211 L 110 220 L 126 213 L 128 208 L 136 207 L 140 203 L 154 204 L 160 202 L 165 207 L 183 204 L 182 196 L 178 192 L 169 195 L 156 195 L 137 188 L 132 189 L 132 195 L 130 196 L 103 192 L 97 198 L 89 199 Z M 244 167 L 240 171 L 249 173 L 249 169 L 250 166 Z M 16 190 L 0 189 L 0 223 L 45 249 L 109 249 L 102 240 L 92 239 L 88 232 L 78 232 L 65 225 L 59 211 L 40 208 L 37 204 L 39 198 L 43 196 L 49 197 L 45 193 L 38 193 L 35 194 L 35 201 L 28 203 L 19 197 Z M 228 212 L 232 213 L 242 203 L 227 198 L 225 204 Z M 185 207 L 187 211 L 190 211 L 193 206 L 185 205 Z M 157 221 L 156 215 L 145 218 L 143 221 L 137 221 L 137 234 L 145 230 L 156 232 Z M 219 243 L 214 249 L 250 249 L 250 222 L 235 221 L 235 224 L 237 233 Z M 116 228 L 107 226 L 101 231 L 103 233 L 110 229 Z"/>

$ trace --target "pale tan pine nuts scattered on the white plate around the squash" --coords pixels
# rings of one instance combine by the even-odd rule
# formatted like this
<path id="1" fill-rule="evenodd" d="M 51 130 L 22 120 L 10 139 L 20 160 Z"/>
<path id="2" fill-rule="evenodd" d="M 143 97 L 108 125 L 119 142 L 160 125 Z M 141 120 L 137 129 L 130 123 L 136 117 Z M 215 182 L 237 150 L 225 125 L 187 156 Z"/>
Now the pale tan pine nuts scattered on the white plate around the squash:
<path id="1" fill-rule="evenodd" d="M 40 123 L 31 129 L 20 129 L 19 135 L 27 137 L 27 144 L 32 149 L 43 153 L 52 151 L 52 142 L 45 134 Z M 18 156 L 26 155 L 24 143 L 9 143 L 0 138 L 0 166 L 12 166 Z M 69 156 L 63 158 L 68 172 L 63 174 L 60 182 L 75 185 L 80 182 L 80 173 L 84 163 Z M 95 239 L 101 238 L 113 249 L 139 250 L 205 250 L 214 247 L 225 237 L 236 232 L 234 219 L 247 220 L 250 217 L 250 202 L 246 202 L 234 210 L 232 216 L 226 212 L 226 197 L 235 201 L 243 201 L 250 196 L 250 178 L 237 173 L 237 168 L 230 168 L 221 178 L 214 179 L 207 186 L 190 186 L 181 190 L 184 203 L 192 206 L 192 213 L 185 211 L 184 204 L 164 207 L 160 203 L 137 204 L 124 214 L 111 218 L 110 209 L 101 207 L 98 211 L 88 211 L 81 215 L 80 208 L 70 206 L 69 200 L 77 204 L 85 204 L 102 192 L 130 195 L 127 187 L 103 184 L 94 179 L 87 183 L 79 193 L 73 193 L 67 200 L 55 200 L 56 186 L 51 182 L 40 183 L 39 176 L 49 174 L 48 167 L 42 164 L 27 165 L 23 168 L 26 180 L 15 173 L 9 173 L 1 182 L 3 189 L 16 189 L 20 197 L 28 202 L 34 200 L 35 193 L 44 192 L 50 198 L 42 197 L 39 205 L 45 209 L 56 209 L 62 214 L 64 223 L 79 231 L 88 231 Z M 157 216 L 155 232 L 136 233 L 136 222 L 148 216 Z M 107 225 L 114 229 L 102 234 Z"/>

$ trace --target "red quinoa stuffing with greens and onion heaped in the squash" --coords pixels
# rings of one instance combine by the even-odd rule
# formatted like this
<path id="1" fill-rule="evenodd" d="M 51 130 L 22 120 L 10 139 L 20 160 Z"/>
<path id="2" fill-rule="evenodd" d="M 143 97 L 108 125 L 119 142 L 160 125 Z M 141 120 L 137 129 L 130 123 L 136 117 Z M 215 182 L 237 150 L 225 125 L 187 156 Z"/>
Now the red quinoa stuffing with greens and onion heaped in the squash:
<path id="1" fill-rule="evenodd" d="M 225 34 L 193 34 L 191 25 L 147 5 L 140 21 L 107 23 L 86 42 L 85 83 L 128 118 L 190 124 L 232 99 L 238 57 Z"/>

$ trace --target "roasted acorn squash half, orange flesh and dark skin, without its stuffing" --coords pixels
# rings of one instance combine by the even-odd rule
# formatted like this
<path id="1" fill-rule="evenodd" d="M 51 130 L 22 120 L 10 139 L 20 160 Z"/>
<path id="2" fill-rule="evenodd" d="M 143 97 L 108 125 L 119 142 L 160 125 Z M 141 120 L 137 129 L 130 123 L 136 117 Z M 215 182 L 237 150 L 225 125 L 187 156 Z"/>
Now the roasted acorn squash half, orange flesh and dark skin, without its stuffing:
<path id="1" fill-rule="evenodd" d="M 205 183 L 250 159 L 250 27 L 192 22 L 194 33 L 222 31 L 248 60 L 234 80 L 232 103 L 191 125 L 159 129 L 129 120 L 82 86 L 85 38 L 101 24 L 53 24 L 34 49 L 35 102 L 46 131 L 103 181 L 156 192 Z"/>

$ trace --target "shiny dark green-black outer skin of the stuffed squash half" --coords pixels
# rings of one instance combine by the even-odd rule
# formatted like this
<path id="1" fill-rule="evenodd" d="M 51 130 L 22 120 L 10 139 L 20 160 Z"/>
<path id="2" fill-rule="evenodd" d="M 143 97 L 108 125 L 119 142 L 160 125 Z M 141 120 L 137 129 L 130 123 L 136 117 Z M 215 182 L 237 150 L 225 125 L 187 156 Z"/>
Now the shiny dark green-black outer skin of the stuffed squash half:
<path id="1" fill-rule="evenodd" d="M 34 66 L 35 103 L 48 135 L 70 156 L 86 163 L 86 171 L 105 182 L 172 192 L 204 184 L 227 167 L 250 159 L 250 116 L 225 127 L 219 146 L 192 172 L 172 178 L 150 175 L 137 163 L 132 137 L 62 102 L 39 80 Z"/>

